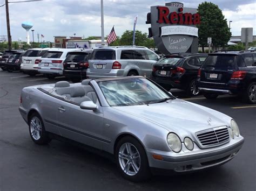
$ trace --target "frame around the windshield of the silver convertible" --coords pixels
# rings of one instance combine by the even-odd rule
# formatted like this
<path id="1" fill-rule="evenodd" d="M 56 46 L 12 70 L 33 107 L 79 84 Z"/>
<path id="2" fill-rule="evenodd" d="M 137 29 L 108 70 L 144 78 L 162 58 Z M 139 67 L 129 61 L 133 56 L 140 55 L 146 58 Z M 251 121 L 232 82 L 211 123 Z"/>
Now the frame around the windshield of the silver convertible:
<path id="1" fill-rule="evenodd" d="M 97 80 L 93 80 L 97 83 L 97 86 L 99 87 L 99 90 L 101 91 L 100 93 L 103 95 L 104 99 L 105 99 L 105 102 L 107 103 L 107 106 L 108 107 L 127 107 L 127 106 L 138 106 L 138 105 L 149 105 L 149 104 L 155 104 L 155 103 L 161 103 L 163 102 L 163 100 L 165 99 L 159 99 L 159 100 L 151 100 L 149 103 L 144 103 L 144 102 L 136 102 L 134 104 L 117 104 L 117 105 L 111 105 L 109 103 L 109 101 L 107 100 L 102 88 L 100 87 L 99 85 L 99 82 L 102 82 L 102 81 L 118 81 L 118 80 L 125 80 L 125 79 L 146 79 L 148 81 L 150 81 L 151 83 L 154 84 L 154 86 L 158 87 L 160 90 L 163 91 L 163 93 L 166 94 L 166 100 L 165 101 L 168 101 L 168 100 L 174 100 L 176 99 L 176 97 L 174 97 L 169 91 L 166 91 L 163 87 L 159 86 L 159 84 L 157 84 L 156 82 L 152 81 L 151 79 L 147 78 L 147 77 L 142 77 L 142 76 L 130 76 L 130 77 L 118 77 L 118 78 L 111 78 L 111 79 L 97 79 Z M 144 104 L 142 104 L 144 103 Z"/>

